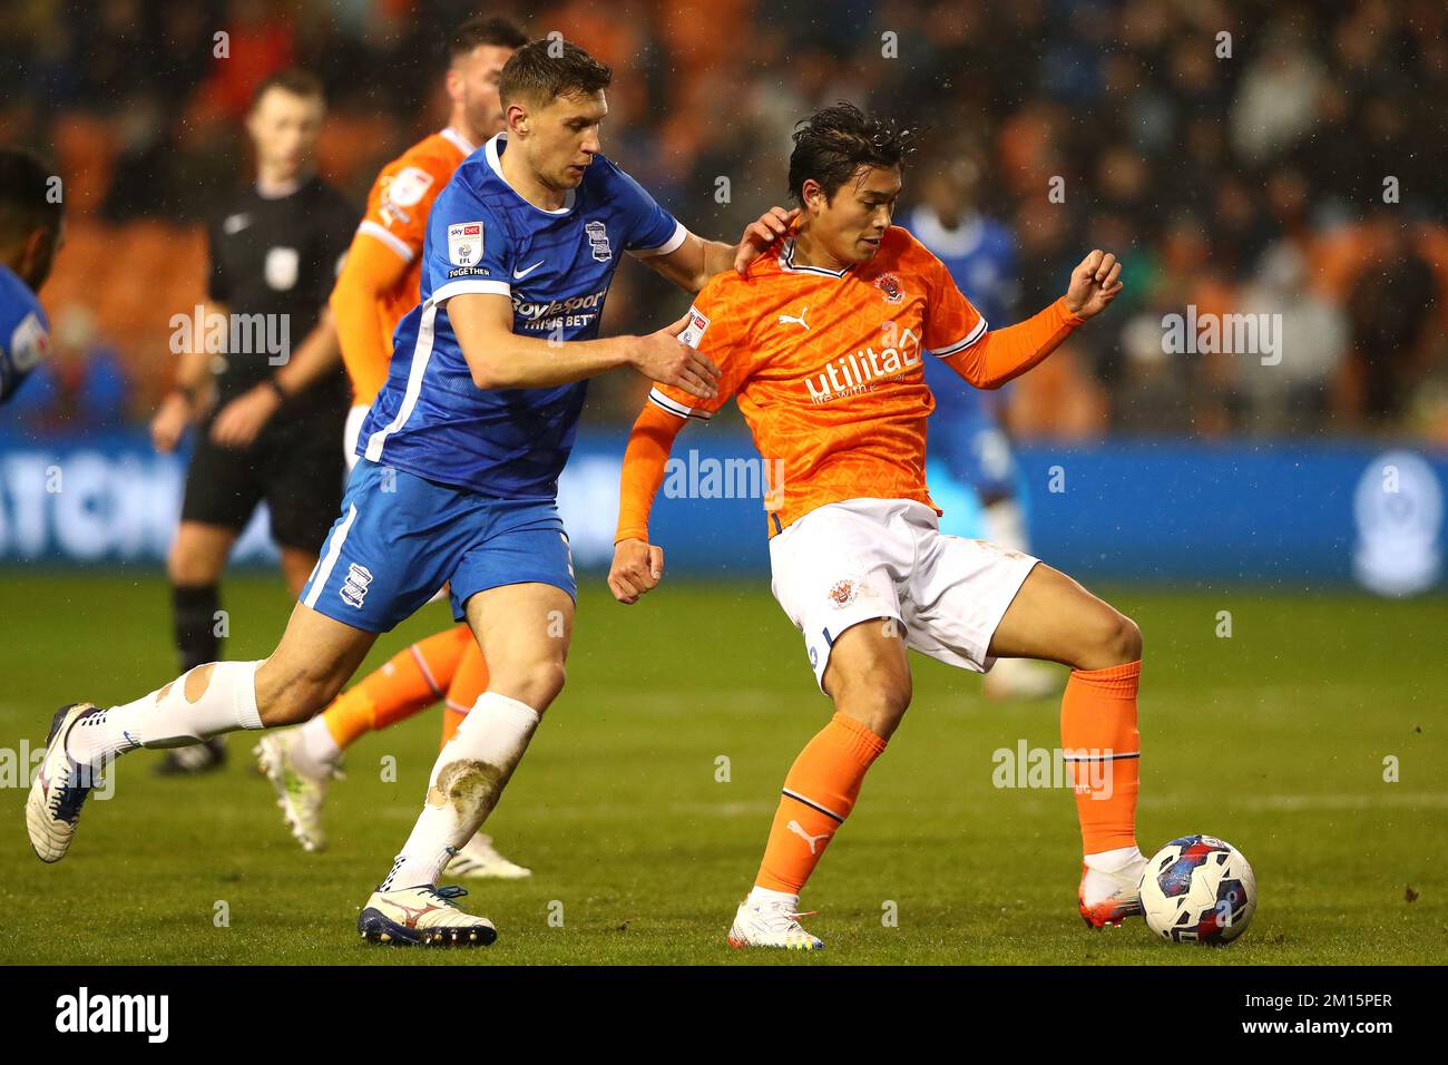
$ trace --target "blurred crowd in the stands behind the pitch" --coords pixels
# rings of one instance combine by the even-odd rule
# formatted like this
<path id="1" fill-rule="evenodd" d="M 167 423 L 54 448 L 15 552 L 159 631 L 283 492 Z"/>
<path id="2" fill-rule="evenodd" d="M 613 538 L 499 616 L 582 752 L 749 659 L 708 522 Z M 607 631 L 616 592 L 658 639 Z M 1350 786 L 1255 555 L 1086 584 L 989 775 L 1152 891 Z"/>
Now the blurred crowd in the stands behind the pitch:
<path id="1" fill-rule="evenodd" d="M 168 322 L 203 293 L 198 222 L 249 180 L 240 117 L 261 78 L 323 77 L 320 168 L 361 204 L 440 125 L 446 33 L 484 9 L 613 65 L 605 152 L 708 236 L 783 203 L 794 123 L 847 99 L 922 126 L 921 165 L 979 167 L 976 206 L 1016 238 L 1021 314 L 1085 251 L 1121 255 L 1106 319 L 1012 385 L 1021 436 L 1448 443 L 1441 0 L 6 4 L 0 142 L 54 161 L 70 219 L 45 291 L 56 358 L 16 417 L 153 409 Z M 626 268 L 605 327 L 657 327 L 682 303 Z M 1279 351 L 1170 351 L 1164 319 L 1187 307 L 1267 314 Z M 627 422 L 640 394 L 602 383 L 589 417 Z"/>

